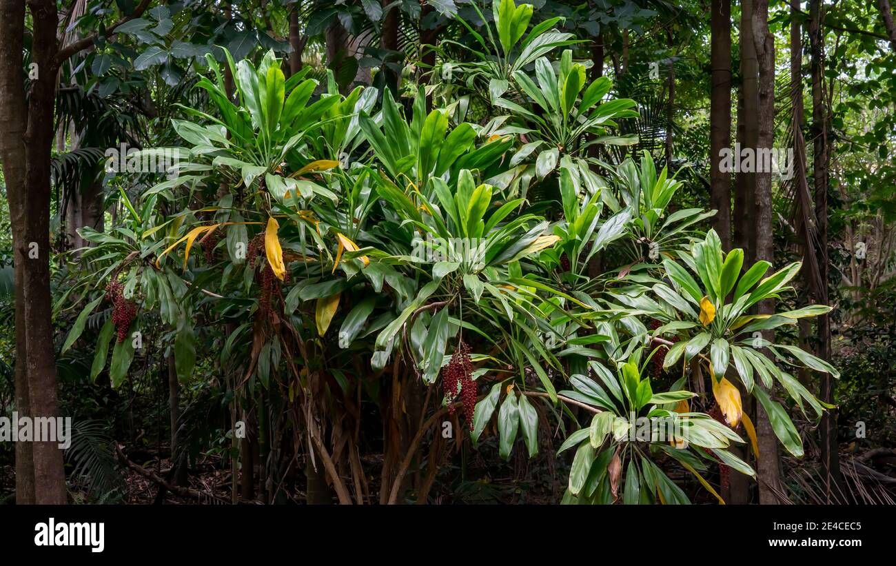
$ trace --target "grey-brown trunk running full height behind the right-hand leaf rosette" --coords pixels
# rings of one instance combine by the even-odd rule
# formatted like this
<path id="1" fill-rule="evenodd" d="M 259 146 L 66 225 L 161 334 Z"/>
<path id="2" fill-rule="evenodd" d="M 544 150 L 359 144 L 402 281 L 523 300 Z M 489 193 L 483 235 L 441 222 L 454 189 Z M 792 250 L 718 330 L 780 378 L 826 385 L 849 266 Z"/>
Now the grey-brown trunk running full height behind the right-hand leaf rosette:
<path id="1" fill-rule="evenodd" d="M 756 58 L 759 62 L 759 135 L 756 144 L 756 238 L 755 257 L 774 263 L 774 247 L 772 242 L 773 226 L 771 223 L 771 162 L 760 167 L 760 151 L 771 150 L 774 141 L 775 113 L 775 44 L 769 32 L 769 2 L 754 0 L 753 3 L 753 43 Z M 774 302 L 766 299 L 759 303 L 760 314 L 774 313 Z M 764 332 L 765 339 L 772 339 L 771 330 Z M 771 421 L 762 406 L 757 404 L 756 435 L 759 441 L 759 502 L 772 504 L 780 502 L 776 492 L 781 491 L 780 456 L 778 438 L 771 427 Z"/>

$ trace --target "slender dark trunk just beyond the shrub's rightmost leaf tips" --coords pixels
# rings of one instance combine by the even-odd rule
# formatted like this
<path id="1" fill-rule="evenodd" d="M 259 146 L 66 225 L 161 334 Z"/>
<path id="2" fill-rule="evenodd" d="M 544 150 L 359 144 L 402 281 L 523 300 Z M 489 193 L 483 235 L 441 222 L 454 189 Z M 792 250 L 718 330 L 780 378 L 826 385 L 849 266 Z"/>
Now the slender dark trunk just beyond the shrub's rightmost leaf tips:
<path id="1" fill-rule="evenodd" d="M 815 231 L 818 239 L 818 270 L 821 292 L 818 302 L 828 304 L 828 149 L 827 107 L 824 100 L 824 15 L 821 0 L 809 4 L 809 46 L 812 62 L 812 138 L 813 176 L 815 189 Z M 824 360 L 831 359 L 831 319 L 823 314 L 817 319 L 818 351 Z M 820 396 L 823 401 L 833 399 L 833 382 L 830 373 L 821 373 Z M 825 488 L 830 496 L 831 484 L 840 481 L 840 461 L 837 442 L 836 409 L 825 411 L 820 425 L 822 466 L 825 471 Z"/>

